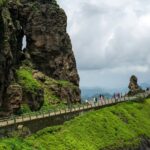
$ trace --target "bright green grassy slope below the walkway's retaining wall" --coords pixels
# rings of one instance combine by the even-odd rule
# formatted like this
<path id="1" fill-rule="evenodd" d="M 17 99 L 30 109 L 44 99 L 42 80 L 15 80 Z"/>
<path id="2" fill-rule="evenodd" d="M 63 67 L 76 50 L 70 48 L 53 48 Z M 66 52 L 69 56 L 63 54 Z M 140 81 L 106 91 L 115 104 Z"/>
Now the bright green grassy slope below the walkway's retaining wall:
<path id="1" fill-rule="evenodd" d="M 26 139 L 0 141 L 0 150 L 101 150 L 136 147 L 150 138 L 150 99 L 127 102 L 46 128 Z"/>

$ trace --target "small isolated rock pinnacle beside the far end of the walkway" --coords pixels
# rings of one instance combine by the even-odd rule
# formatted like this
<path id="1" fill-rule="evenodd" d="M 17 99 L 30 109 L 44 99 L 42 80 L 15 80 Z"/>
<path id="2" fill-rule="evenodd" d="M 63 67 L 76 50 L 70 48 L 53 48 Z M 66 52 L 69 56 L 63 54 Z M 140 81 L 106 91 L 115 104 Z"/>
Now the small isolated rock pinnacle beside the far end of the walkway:
<path id="1" fill-rule="evenodd" d="M 135 75 L 131 76 L 128 88 L 130 89 L 130 91 L 128 92 L 129 96 L 144 92 L 138 85 L 138 79 Z"/>

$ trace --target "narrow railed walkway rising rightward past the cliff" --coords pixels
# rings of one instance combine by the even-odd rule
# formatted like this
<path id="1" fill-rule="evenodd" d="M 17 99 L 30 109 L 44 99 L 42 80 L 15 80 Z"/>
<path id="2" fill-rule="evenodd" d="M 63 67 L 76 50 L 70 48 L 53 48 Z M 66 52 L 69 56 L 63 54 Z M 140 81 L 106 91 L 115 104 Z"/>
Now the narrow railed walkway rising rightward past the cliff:
<path id="1" fill-rule="evenodd" d="M 100 109 L 102 107 L 111 106 L 117 103 L 125 102 L 125 101 L 134 101 L 134 100 L 141 100 L 146 98 L 150 94 L 150 91 L 146 91 L 144 93 L 137 94 L 136 96 L 124 96 L 118 99 L 107 99 L 104 101 L 98 101 L 97 103 L 93 104 L 85 104 L 82 106 L 76 106 L 72 108 L 65 108 L 57 111 L 49 110 L 49 111 L 42 111 L 42 112 L 34 112 L 30 114 L 24 114 L 21 116 L 13 116 L 8 118 L 0 118 L 0 128 L 4 128 L 7 126 L 13 126 L 15 124 L 24 124 L 25 122 L 32 122 L 34 120 L 42 120 L 44 118 L 51 118 L 62 116 L 65 114 L 80 114 L 81 112 L 90 111 L 93 109 Z M 77 115 L 76 115 L 77 116 Z M 69 120 L 69 119 L 68 119 Z"/>

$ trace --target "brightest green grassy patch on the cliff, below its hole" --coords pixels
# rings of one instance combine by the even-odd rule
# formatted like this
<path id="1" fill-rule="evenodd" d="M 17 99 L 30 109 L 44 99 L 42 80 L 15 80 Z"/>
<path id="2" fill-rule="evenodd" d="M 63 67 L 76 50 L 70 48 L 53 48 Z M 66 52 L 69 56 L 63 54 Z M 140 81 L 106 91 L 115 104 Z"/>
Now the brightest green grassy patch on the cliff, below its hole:
<path id="1" fill-rule="evenodd" d="M 16 73 L 19 84 L 26 92 L 36 93 L 41 88 L 40 83 L 33 78 L 30 68 L 21 67 Z"/>

